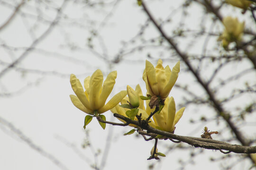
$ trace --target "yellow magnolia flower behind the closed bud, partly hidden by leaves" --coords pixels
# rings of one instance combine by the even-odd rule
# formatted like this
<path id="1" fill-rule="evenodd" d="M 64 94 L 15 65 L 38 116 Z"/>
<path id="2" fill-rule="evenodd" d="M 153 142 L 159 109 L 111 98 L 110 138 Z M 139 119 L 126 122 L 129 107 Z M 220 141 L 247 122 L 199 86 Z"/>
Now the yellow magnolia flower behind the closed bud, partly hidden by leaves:
<path id="1" fill-rule="evenodd" d="M 139 95 L 142 95 L 142 91 L 141 91 L 141 88 L 139 85 L 136 86 L 136 89 L 135 89 L 135 92 L 136 94 L 139 96 Z M 125 98 L 123 98 L 123 100 L 121 101 L 121 104 L 128 104 L 129 102 L 129 98 L 126 96 Z M 129 109 L 126 109 L 126 108 L 122 108 L 120 107 L 119 105 L 116 105 L 113 109 L 111 109 L 112 113 L 118 113 L 122 116 L 125 116 L 125 117 L 128 117 L 126 115 L 126 111 L 128 111 Z M 148 114 L 146 113 L 146 110 L 145 110 L 145 107 L 144 107 L 144 101 L 141 100 L 139 98 L 139 107 L 138 107 L 138 115 L 139 114 L 142 114 L 142 119 L 147 119 L 148 117 Z M 120 121 L 124 122 L 124 120 L 122 119 L 119 119 Z M 138 120 L 136 117 L 134 118 L 134 120 Z M 152 127 L 155 127 L 154 123 L 152 123 L 152 120 L 150 120 L 151 122 L 149 122 L 148 124 Z M 136 125 L 132 125 L 132 124 L 129 124 L 130 127 L 137 127 Z"/>

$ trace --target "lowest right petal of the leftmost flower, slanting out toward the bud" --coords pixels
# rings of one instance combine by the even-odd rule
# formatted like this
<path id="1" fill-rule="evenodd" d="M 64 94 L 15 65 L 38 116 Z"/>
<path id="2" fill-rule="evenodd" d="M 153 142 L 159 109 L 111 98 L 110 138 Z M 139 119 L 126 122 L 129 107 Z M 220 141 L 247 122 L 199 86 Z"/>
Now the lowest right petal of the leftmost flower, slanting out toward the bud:
<path id="1" fill-rule="evenodd" d="M 123 90 L 119 93 L 117 93 L 116 95 L 114 95 L 112 97 L 112 99 L 110 99 L 110 101 L 104 105 L 102 108 L 100 108 L 98 110 L 98 113 L 104 113 L 110 109 L 112 109 L 113 107 L 115 107 L 119 102 L 121 102 L 121 100 L 127 95 L 126 90 Z"/>

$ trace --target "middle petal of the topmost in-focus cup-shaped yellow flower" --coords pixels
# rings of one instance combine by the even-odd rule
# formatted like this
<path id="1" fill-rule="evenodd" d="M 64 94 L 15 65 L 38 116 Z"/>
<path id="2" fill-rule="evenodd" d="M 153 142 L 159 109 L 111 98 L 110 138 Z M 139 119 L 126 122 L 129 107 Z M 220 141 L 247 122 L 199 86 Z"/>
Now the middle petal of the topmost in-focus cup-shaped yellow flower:
<path id="1" fill-rule="evenodd" d="M 165 75 L 165 68 L 163 67 L 163 65 L 161 63 L 163 63 L 163 62 L 158 62 L 155 67 L 155 77 L 156 77 L 157 89 L 158 89 L 159 93 L 161 93 L 161 91 L 164 89 L 164 87 L 167 83 L 167 77 Z"/>

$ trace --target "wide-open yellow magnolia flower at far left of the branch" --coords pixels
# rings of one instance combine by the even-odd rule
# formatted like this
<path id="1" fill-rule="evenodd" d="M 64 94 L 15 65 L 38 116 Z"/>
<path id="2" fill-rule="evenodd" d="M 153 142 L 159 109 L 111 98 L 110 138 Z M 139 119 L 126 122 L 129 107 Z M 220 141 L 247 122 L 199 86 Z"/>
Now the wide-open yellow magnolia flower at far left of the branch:
<path id="1" fill-rule="evenodd" d="M 75 95 L 70 95 L 74 106 L 88 114 L 104 113 L 115 107 L 126 95 L 127 92 L 121 91 L 114 95 L 105 105 L 116 81 L 117 71 L 112 71 L 103 83 L 103 74 L 97 69 L 92 76 L 84 79 L 84 88 L 75 75 L 70 75 L 70 83 Z M 102 86 L 103 83 L 103 86 Z"/>

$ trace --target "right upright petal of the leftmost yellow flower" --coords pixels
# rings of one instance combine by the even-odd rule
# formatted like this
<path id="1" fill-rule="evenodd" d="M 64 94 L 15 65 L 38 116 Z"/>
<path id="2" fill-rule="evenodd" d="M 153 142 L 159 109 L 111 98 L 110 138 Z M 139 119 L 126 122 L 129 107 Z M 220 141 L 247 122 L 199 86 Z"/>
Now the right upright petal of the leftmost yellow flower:
<path id="1" fill-rule="evenodd" d="M 102 92 L 100 96 L 100 108 L 104 106 L 107 98 L 113 90 L 113 87 L 116 83 L 117 71 L 112 71 L 106 78 L 103 83 Z"/>

